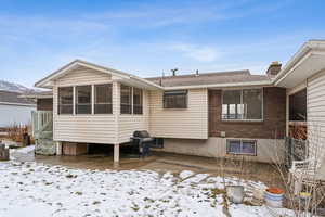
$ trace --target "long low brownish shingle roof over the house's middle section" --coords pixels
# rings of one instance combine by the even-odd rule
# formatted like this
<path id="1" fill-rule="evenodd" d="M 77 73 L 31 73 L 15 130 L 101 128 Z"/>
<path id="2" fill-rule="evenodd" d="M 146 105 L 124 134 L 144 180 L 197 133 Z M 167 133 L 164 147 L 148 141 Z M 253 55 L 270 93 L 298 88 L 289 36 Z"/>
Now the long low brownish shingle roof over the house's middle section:
<path id="1" fill-rule="evenodd" d="M 192 75 L 146 78 L 164 87 L 205 86 L 214 84 L 243 84 L 271 81 L 266 75 L 251 75 L 249 71 L 216 72 Z"/>

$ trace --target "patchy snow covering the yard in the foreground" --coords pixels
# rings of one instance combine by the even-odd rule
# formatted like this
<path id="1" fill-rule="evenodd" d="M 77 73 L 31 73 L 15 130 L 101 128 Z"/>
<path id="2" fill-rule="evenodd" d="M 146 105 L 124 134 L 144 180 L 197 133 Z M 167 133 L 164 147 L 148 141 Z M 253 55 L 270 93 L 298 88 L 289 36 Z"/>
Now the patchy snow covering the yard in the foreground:
<path id="1" fill-rule="evenodd" d="M 0 162 L 0 180 L 1 217 L 224 216 L 222 194 L 213 190 L 223 189 L 223 179 L 208 174 L 100 171 L 11 161 Z M 225 181 L 238 183 L 235 178 Z M 260 182 L 242 183 L 247 191 L 265 188 Z M 239 217 L 272 216 L 265 206 L 230 204 L 229 212 Z"/>

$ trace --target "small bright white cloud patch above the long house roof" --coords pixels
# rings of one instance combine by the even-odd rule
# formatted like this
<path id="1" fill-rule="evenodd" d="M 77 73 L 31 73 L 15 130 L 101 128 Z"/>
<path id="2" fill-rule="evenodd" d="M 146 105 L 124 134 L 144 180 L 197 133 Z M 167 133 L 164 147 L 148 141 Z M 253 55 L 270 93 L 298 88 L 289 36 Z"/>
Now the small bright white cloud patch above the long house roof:
<path id="1" fill-rule="evenodd" d="M 219 58 L 217 50 L 208 46 L 178 43 L 171 46 L 171 50 L 181 52 L 185 56 L 200 62 L 213 62 Z"/>

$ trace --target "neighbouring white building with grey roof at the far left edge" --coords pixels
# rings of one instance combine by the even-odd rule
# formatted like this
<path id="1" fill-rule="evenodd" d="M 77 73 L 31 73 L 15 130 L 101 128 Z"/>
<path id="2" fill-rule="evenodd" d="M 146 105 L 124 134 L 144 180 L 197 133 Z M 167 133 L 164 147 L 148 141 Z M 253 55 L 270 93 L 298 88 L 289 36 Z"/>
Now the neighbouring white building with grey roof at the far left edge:
<path id="1" fill-rule="evenodd" d="M 22 93 L 0 90 L 0 127 L 30 124 L 31 111 L 36 110 L 32 100 L 22 98 Z"/>

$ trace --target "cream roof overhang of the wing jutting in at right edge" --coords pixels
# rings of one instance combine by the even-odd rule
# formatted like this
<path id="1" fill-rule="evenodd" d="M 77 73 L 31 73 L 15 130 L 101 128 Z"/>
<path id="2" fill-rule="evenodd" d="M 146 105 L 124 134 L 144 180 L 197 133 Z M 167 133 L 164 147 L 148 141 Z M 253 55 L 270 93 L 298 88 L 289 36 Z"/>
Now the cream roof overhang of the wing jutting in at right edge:
<path id="1" fill-rule="evenodd" d="M 294 88 L 324 68 L 325 41 L 310 40 L 298 50 L 273 82 L 278 87 Z"/>

